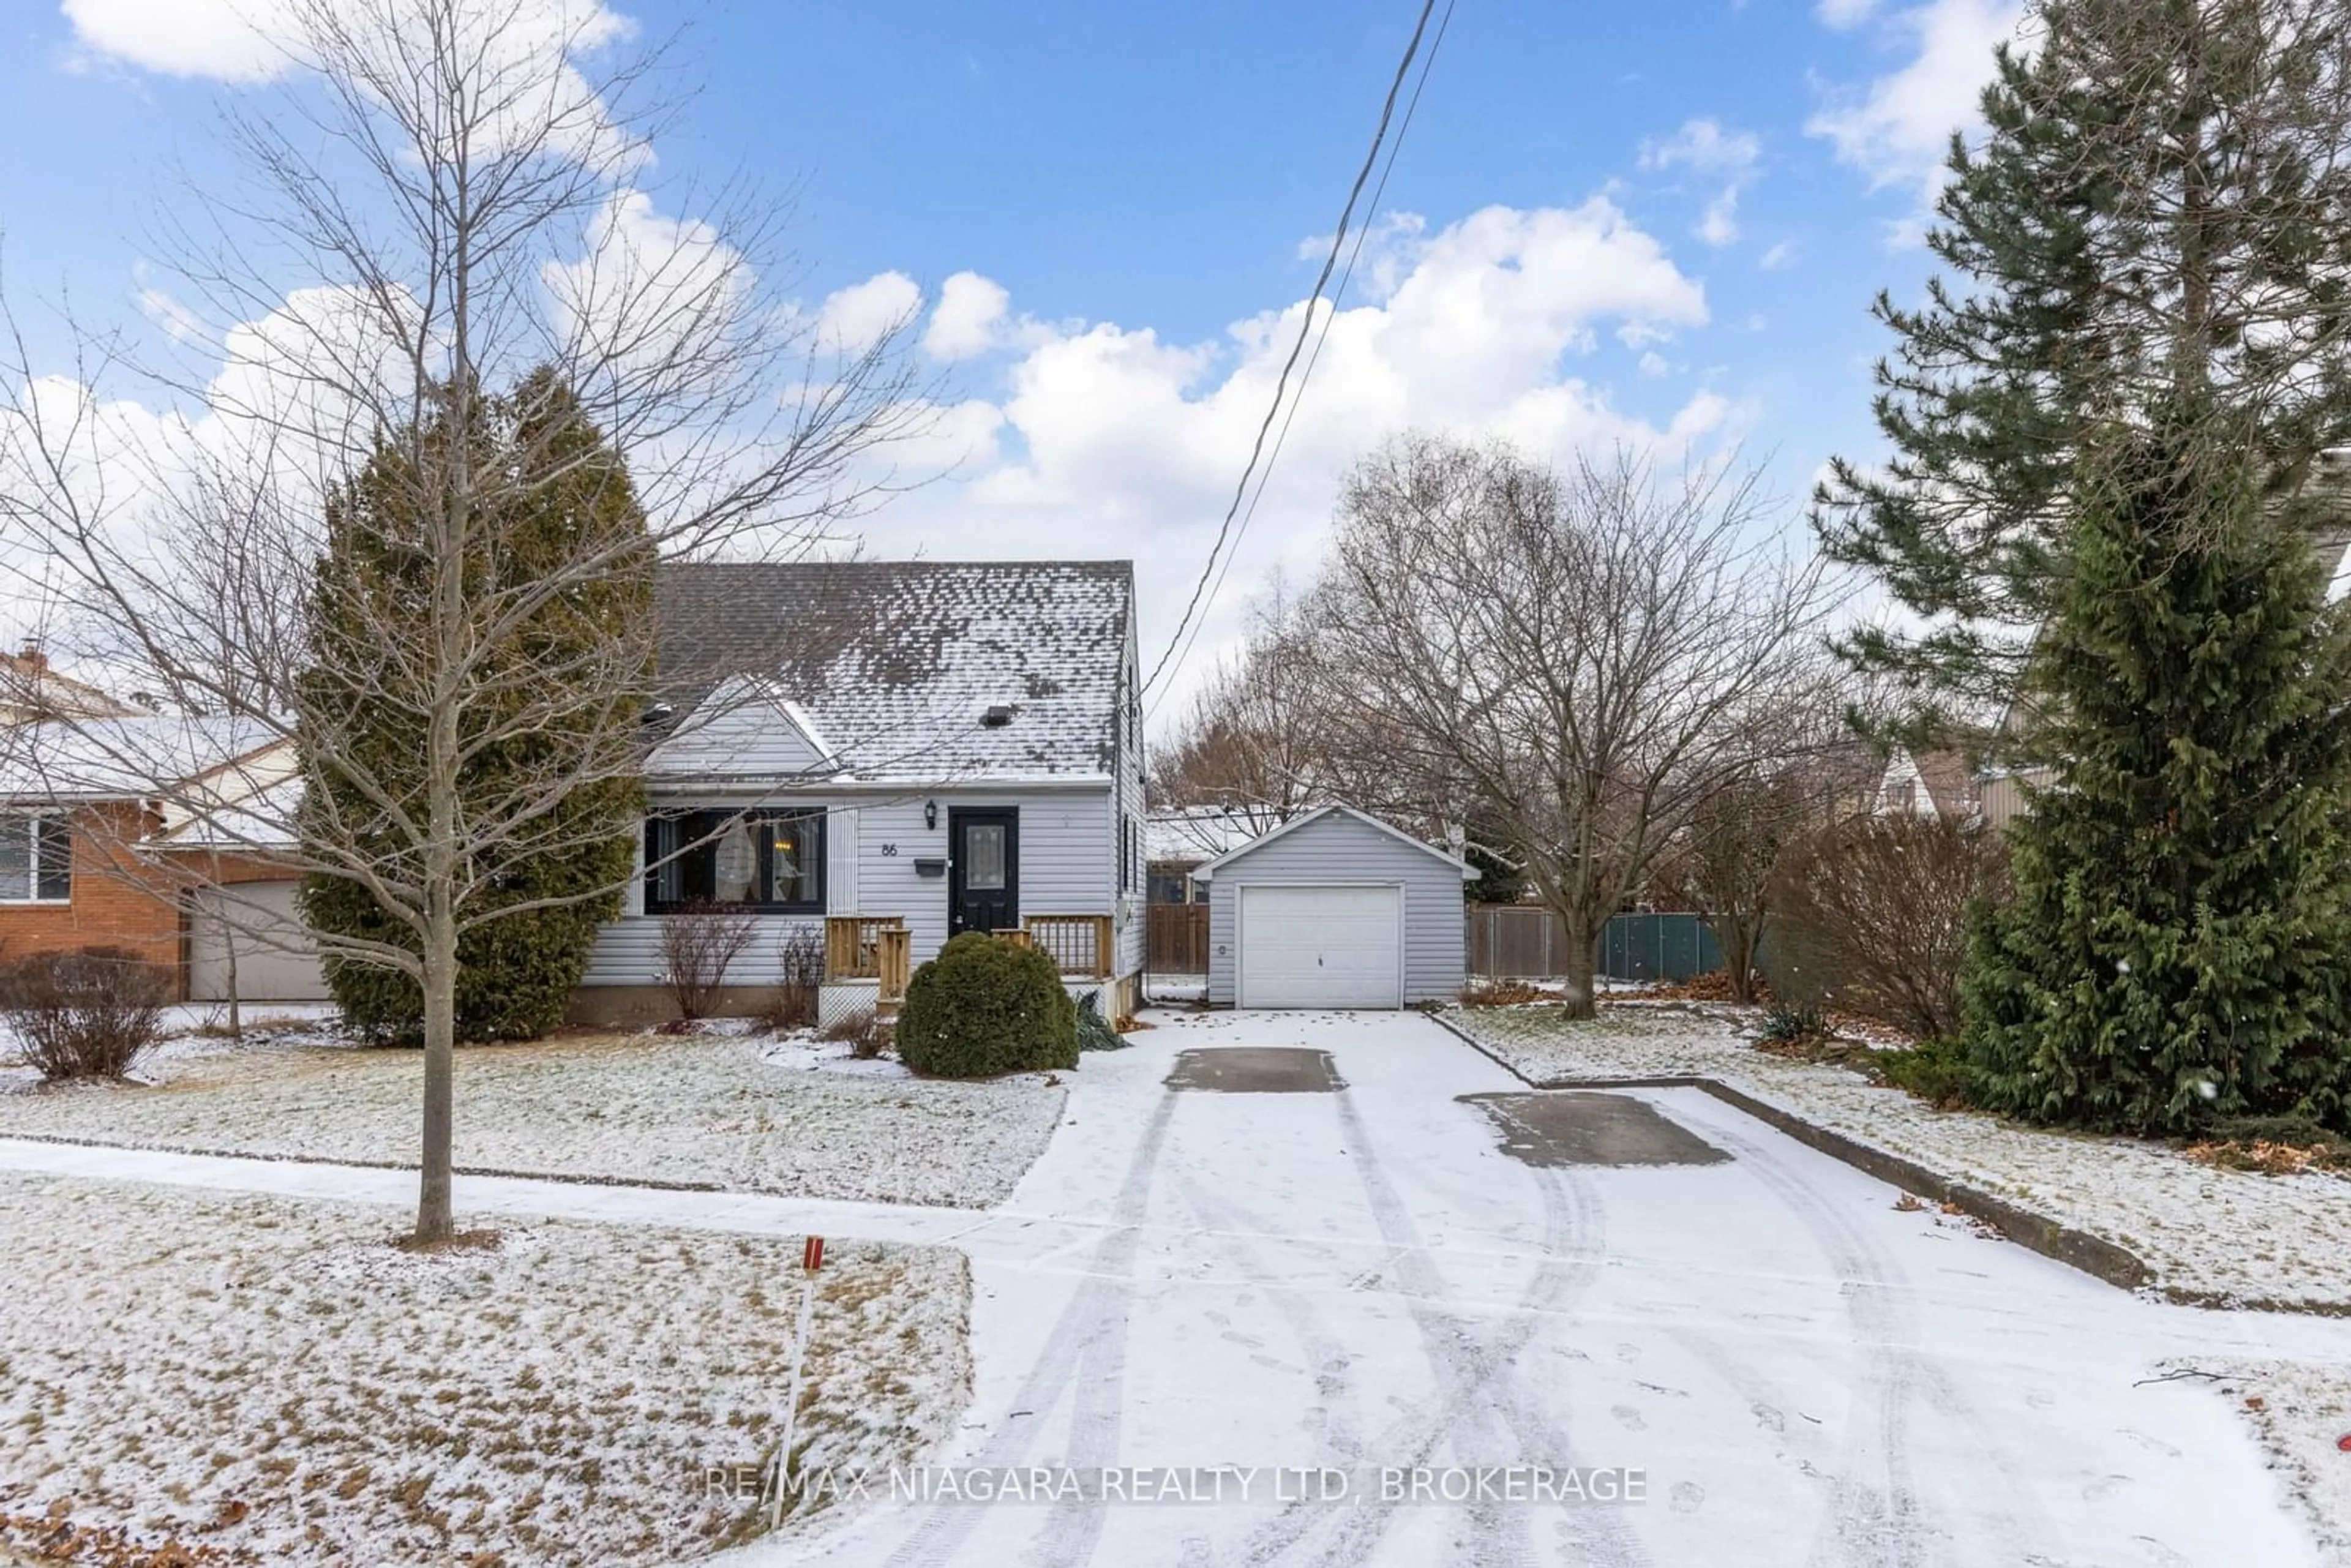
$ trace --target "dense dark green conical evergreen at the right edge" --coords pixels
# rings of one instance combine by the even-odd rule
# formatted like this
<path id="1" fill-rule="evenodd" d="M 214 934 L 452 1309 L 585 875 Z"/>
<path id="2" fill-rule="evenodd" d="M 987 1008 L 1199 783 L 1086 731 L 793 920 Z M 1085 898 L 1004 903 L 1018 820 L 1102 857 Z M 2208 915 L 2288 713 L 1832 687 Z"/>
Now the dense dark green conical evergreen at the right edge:
<path id="1" fill-rule="evenodd" d="M 1994 1110 L 2130 1133 L 2344 1126 L 2351 625 L 2255 458 L 2186 421 L 2090 456 L 2029 693 L 2057 780 L 1970 933 Z"/>

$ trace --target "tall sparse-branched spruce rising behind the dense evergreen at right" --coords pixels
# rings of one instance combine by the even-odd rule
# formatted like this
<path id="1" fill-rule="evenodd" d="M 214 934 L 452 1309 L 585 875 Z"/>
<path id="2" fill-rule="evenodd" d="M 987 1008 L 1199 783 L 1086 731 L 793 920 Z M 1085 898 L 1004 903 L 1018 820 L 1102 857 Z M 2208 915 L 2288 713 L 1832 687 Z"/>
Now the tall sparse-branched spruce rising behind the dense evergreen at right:
<path id="1" fill-rule="evenodd" d="M 2027 33 L 1954 136 L 1925 301 L 1874 308 L 1890 454 L 1815 496 L 1923 628 L 1846 644 L 1909 741 L 2015 693 L 2092 430 L 2205 400 L 2271 494 L 2351 440 L 2351 7 L 2043 0 Z"/>

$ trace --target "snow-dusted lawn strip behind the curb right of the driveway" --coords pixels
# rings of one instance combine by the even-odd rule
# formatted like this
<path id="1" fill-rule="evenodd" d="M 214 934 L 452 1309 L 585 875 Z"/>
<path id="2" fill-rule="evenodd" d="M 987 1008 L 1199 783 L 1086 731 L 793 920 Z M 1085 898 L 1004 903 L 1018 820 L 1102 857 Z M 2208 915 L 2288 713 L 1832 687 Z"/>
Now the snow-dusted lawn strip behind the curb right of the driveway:
<path id="1" fill-rule="evenodd" d="M 1697 1074 L 1815 1126 L 2137 1253 L 2191 1298 L 2351 1307 L 2351 1180 L 2222 1171 L 2125 1138 L 2085 1138 L 1940 1112 L 1834 1065 L 1751 1048 L 1751 1016 L 1723 1006 L 1453 1009 L 1462 1032 L 1538 1084 Z M 2342 1455 L 2337 1455 L 2342 1458 Z M 2351 1458 L 2344 1460 L 2351 1465 Z"/>

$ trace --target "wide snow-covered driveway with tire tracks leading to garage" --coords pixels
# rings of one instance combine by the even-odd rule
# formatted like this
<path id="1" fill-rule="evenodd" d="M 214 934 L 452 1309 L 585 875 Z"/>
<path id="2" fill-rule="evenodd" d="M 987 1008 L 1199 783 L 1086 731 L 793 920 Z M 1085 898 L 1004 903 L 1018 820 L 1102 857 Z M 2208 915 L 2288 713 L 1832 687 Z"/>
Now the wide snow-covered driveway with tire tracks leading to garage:
<path id="1" fill-rule="evenodd" d="M 1326 1051 L 1345 1088 L 1164 1086 L 1215 1046 Z M 2139 1380 L 2339 1361 L 2339 1324 L 2130 1298 L 1695 1091 L 1636 1098 L 1728 1161 L 1528 1164 L 1458 1098 L 1516 1088 L 1418 1016 L 1187 1016 L 1086 1058 L 1046 1157 L 957 1239 L 976 1403 L 938 1462 L 980 1469 L 907 1479 L 1060 1495 L 875 1481 L 837 1533 L 738 1561 L 2316 1561 L 2231 1403 Z M 1646 1495 L 1382 1493 L 1474 1465 Z"/>

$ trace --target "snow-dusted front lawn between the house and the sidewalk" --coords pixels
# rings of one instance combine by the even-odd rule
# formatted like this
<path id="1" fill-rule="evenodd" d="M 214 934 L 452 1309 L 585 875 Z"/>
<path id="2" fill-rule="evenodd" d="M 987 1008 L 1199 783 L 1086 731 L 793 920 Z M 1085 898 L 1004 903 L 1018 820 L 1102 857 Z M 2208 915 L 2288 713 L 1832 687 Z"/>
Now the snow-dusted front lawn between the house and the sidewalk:
<path id="1" fill-rule="evenodd" d="M 148 1086 L 42 1088 L 0 1067 L 0 1135 L 414 1164 L 416 1051 L 296 1032 L 169 1044 Z M 811 1039 L 595 1034 L 468 1046 L 456 1161 L 475 1171 L 987 1206 L 1060 1121 L 1037 1074 L 912 1079 Z"/>

